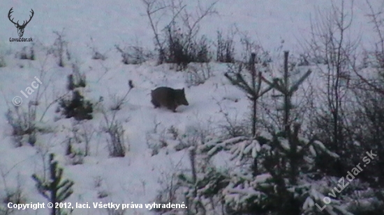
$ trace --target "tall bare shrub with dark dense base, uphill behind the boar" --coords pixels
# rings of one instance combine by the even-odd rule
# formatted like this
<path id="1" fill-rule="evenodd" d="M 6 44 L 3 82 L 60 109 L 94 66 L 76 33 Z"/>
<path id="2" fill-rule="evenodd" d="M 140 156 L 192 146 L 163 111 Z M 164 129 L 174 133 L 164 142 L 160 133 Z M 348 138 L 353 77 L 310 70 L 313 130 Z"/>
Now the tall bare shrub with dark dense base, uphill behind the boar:
<path id="1" fill-rule="evenodd" d="M 155 38 L 155 47 L 158 51 L 158 63 L 176 63 L 176 70 L 184 70 L 191 62 L 209 62 L 209 44 L 207 39 L 198 37 L 200 22 L 209 15 L 216 13 L 216 2 L 203 7 L 198 1 L 195 11 L 186 8 L 184 1 L 154 1 L 142 0 L 145 6 L 149 24 Z M 166 20 L 165 26 L 159 27 L 159 22 L 165 19 L 162 14 L 171 16 Z M 165 29 L 163 33 L 159 29 Z"/>

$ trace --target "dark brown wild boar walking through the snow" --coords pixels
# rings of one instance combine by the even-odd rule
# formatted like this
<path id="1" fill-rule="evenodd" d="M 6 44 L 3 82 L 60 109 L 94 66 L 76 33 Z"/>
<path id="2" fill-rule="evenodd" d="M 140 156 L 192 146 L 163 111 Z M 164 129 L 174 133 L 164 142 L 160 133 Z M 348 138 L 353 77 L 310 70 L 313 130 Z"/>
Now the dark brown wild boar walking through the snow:
<path id="1" fill-rule="evenodd" d="M 154 104 L 155 109 L 160 106 L 165 106 L 173 112 L 176 112 L 177 106 L 182 104 L 189 105 L 186 101 L 184 88 L 182 89 L 172 89 L 165 86 L 158 87 L 151 92 L 152 104 Z"/>

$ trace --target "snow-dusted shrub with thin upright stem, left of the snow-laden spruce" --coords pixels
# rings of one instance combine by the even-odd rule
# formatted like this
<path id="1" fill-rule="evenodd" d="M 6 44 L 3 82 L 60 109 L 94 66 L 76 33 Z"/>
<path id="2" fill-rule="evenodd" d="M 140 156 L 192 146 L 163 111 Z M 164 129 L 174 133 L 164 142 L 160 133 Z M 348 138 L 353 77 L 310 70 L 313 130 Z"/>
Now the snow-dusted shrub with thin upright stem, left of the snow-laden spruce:
<path id="1" fill-rule="evenodd" d="M 177 133 L 178 134 L 178 133 Z M 200 153 L 199 147 L 211 141 L 214 136 L 212 129 L 203 129 L 200 125 L 186 128 L 184 134 L 178 134 L 180 147 L 177 150 L 186 150 L 189 153 L 190 168 L 178 170 L 168 175 L 167 186 L 159 193 L 158 201 L 173 201 L 186 204 L 188 214 L 206 214 L 208 209 L 221 205 L 219 191 L 223 188 L 224 178 L 216 172 L 209 161 L 209 155 Z M 217 195 L 217 196 L 215 196 Z M 162 210 L 170 214 L 177 213 L 172 209 Z"/>

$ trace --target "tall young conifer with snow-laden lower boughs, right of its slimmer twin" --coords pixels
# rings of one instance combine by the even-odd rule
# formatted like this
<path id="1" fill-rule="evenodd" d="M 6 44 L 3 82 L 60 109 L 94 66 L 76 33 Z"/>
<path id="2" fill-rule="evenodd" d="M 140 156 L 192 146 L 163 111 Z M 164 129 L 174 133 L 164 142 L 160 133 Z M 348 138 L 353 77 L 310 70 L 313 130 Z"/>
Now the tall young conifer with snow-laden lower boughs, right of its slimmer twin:
<path id="1" fill-rule="evenodd" d="M 230 175 L 223 189 L 228 214 L 348 214 L 342 201 L 332 201 L 321 212 L 327 188 L 326 179 L 316 168 L 320 154 L 337 158 L 315 137 L 300 134 L 300 125 L 290 118 L 291 97 L 309 76 L 309 70 L 292 85 L 288 76 L 288 51 L 285 53 L 284 75 L 273 81 L 261 79 L 283 96 L 283 125 L 275 132 L 258 132 L 255 136 L 239 136 L 225 141 L 212 141 L 202 151 L 213 156 L 222 150 L 232 154 L 241 168 Z M 279 107 L 276 107 L 279 108 Z M 258 168 L 255 170 L 255 165 Z"/>

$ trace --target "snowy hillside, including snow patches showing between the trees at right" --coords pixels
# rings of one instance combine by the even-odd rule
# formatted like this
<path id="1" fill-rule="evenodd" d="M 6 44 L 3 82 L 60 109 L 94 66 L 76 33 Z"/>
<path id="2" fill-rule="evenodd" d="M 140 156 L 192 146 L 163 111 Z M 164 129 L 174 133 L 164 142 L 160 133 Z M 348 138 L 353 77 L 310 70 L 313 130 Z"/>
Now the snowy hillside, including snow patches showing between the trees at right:
<path id="1" fill-rule="evenodd" d="M 196 2 L 188 1 L 186 7 L 193 10 Z M 219 30 L 238 29 L 247 33 L 272 57 L 274 70 L 265 74 L 272 79 L 281 75 L 283 51 L 289 50 L 294 59 L 302 53 L 302 43 L 311 33 L 311 19 L 316 17 L 317 10 L 330 8 L 330 1 L 326 2 L 220 0 L 215 5 L 217 14 L 202 19 L 200 34 L 207 35 L 209 42 L 214 43 Z M 378 1 L 372 4 L 381 6 Z M 31 8 L 34 10 L 34 17 L 23 35 L 23 38 L 33 38 L 33 43 L 9 41 L 18 38 L 15 25 L 7 17 L 10 8 L 14 11 L 12 17 L 15 21 L 19 19 L 20 24 L 29 19 Z M 372 27 L 367 25 L 367 11 L 363 1 L 355 2 L 354 24 L 349 32 L 361 35 L 359 49 L 371 47 L 376 39 L 371 33 Z M 0 14 L 0 56 L 5 62 L 5 66 L 0 67 L 0 199 L 4 202 L 1 207 L 7 207 L 9 193 L 17 192 L 21 195 L 20 203 L 45 202 L 46 205 L 49 202 L 39 193 L 31 175 L 47 177 L 50 174 L 49 154 L 54 153 L 54 159 L 64 170 L 63 178 L 74 182 L 73 193 L 64 202 L 71 202 L 72 206 L 75 202 L 88 203 L 89 206 L 88 209 L 74 209 L 72 214 L 118 214 L 108 209 L 95 209 L 93 203 L 97 202 L 124 203 L 128 207 L 138 207 L 131 206 L 131 202 L 142 204 L 144 208 L 128 208 L 125 214 L 154 214 L 154 209 L 146 209 L 145 204 L 156 202 L 158 193 L 169 189 L 175 173 L 190 168 L 189 149 L 178 149 L 181 143 L 200 138 L 204 132 L 207 141 L 219 138 L 228 119 L 249 127 L 245 120 L 251 112 L 249 99 L 224 76 L 228 72 L 226 63 L 190 63 L 187 71 L 209 71 L 209 79 L 198 85 L 191 83 L 191 73 L 175 72 L 167 63 L 157 65 L 153 55 L 137 65 L 121 62 L 116 45 L 143 47 L 144 51 L 154 53 L 154 34 L 140 0 L 6 0 L 1 3 Z M 58 65 L 57 53 L 52 51 L 52 47 L 57 47 L 54 43 L 59 35 L 68 42 L 66 51 L 70 57 L 66 58 L 64 67 Z M 355 38 L 355 35 L 349 36 Z M 234 40 L 237 41 L 235 52 L 240 58 L 243 50 L 239 38 L 237 35 Z M 34 61 L 21 59 L 22 54 L 29 53 L 32 44 Z M 92 59 L 95 49 L 106 59 Z M 302 67 L 297 76 L 313 68 Z M 85 77 L 86 86 L 80 88 L 80 93 L 93 104 L 91 120 L 77 122 L 61 114 L 60 99 L 72 96 L 68 90 L 70 74 Z M 297 91 L 297 97 L 293 97 L 295 102 L 306 102 L 301 98 L 307 95 L 309 86 L 323 86 L 323 82 L 317 81 L 318 77 L 320 74 L 312 72 L 309 82 Z M 34 88 L 37 83 L 40 83 L 38 88 Z M 34 91 L 27 95 L 27 88 L 31 86 Z M 154 109 L 151 90 L 159 86 L 184 88 L 189 106 L 179 106 L 177 113 L 165 108 Z M 16 102 L 22 99 L 22 104 L 15 106 L 15 97 L 19 97 Z M 116 106 L 118 108 L 114 109 Z M 36 140 L 24 136 L 19 140 L 22 145 L 17 145 L 10 115 L 18 119 L 31 118 L 28 114 L 34 110 L 34 123 L 39 129 Z M 307 115 L 303 114 L 300 120 L 304 121 L 304 117 Z M 305 127 L 309 126 L 305 123 Z M 126 147 L 123 157 L 111 157 L 109 153 L 112 140 L 108 127 L 115 125 L 124 129 L 121 133 Z M 32 141 L 34 144 L 29 144 Z M 67 153 L 68 145 L 71 145 L 71 153 Z M 84 156 L 84 147 L 88 148 L 87 156 Z M 213 162 L 220 168 L 233 170 L 232 165 L 238 164 L 229 157 L 230 153 L 222 152 Z M 259 175 L 258 180 L 264 181 L 267 177 Z M 186 204 L 182 200 L 172 203 Z M 43 215 L 50 214 L 50 209 L 8 212 Z"/>

